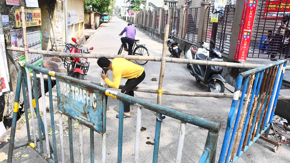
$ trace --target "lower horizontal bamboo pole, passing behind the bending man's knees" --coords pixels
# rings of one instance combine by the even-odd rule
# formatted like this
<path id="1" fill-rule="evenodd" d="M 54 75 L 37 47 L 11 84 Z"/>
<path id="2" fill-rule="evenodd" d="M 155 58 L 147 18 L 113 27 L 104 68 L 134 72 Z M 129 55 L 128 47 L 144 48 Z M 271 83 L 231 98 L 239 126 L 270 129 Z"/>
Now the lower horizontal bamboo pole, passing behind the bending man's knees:
<path id="1" fill-rule="evenodd" d="M 33 77 L 33 74 L 32 74 Z M 36 74 L 37 78 L 40 78 L 40 74 Z M 43 75 L 43 78 L 47 80 L 47 75 Z M 55 77 L 50 77 L 51 80 L 55 80 Z M 95 82 L 95 81 L 90 81 L 86 80 L 88 83 L 92 83 L 98 86 L 102 86 L 101 83 Z M 119 89 L 122 89 L 124 85 L 120 85 Z M 109 87 L 111 88 L 111 87 Z M 151 94 L 156 94 L 157 89 L 148 89 L 148 88 L 143 88 L 143 87 L 135 87 L 132 89 L 133 91 L 137 92 L 144 92 L 144 93 L 151 93 Z M 221 97 L 221 98 L 233 98 L 233 93 L 215 93 L 215 92 L 189 92 L 189 91 L 164 91 L 164 95 L 173 95 L 173 96 L 189 96 L 189 97 Z M 241 97 L 241 95 L 239 96 Z M 245 95 L 247 97 L 247 94 Z M 279 96 L 278 100 L 290 100 L 290 96 Z"/>

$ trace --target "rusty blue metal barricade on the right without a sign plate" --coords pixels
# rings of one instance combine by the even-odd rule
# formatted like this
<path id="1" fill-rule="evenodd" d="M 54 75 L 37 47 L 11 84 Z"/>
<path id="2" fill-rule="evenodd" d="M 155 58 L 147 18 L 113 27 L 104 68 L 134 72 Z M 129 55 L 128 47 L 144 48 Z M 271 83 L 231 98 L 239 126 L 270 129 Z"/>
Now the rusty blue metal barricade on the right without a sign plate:
<path id="1" fill-rule="evenodd" d="M 267 132 L 269 132 L 286 63 L 287 60 L 285 59 L 239 74 L 231 110 L 227 119 L 219 163 L 233 163 L 237 161 L 258 138 L 264 138 L 265 140 L 265 137 L 261 135 L 265 133 L 265 131 L 266 135 Z M 240 95 L 241 88 L 242 94 Z M 238 106 L 239 99 L 240 103 Z M 243 104 L 244 101 L 245 103 Z M 237 108 L 238 111 L 235 117 Z M 235 124 L 232 128 L 234 120 Z"/>

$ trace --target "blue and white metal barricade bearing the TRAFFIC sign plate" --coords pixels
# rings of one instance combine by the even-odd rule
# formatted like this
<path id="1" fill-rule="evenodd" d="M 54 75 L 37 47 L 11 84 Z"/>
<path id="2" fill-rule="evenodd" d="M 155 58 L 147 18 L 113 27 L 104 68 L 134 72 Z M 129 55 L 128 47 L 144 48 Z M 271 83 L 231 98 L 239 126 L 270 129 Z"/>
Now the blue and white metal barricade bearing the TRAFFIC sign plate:
<path id="1" fill-rule="evenodd" d="M 218 140 L 218 133 L 220 130 L 220 124 L 200 118 L 197 116 L 192 116 L 186 113 L 175 111 L 168 107 L 153 104 L 151 102 L 146 102 L 144 100 L 122 94 L 117 91 L 106 89 L 91 83 L 87 83 L 84 80 L 78 80 L 70 76 L 66 76 L 52 70 L 44 69 L 42 67 L 34 66 L 26 62 L 19 62 L 21 67 L 19 68 L 18 79 L 17 79 L 17 89 L 14 103 L 14 113 L 12 119 L 12 127 L 10 134 L 10 144 L 8 152 L 8 163 L 12 162 L 13 150 L 22 146 L 30 145 L 37 153 L 39 153 L 48 162 L 65 162 L 64 155 L 64 133 L 63 133 L 63 115 L 68 116 L 68 136 L 69 136 L 69 148 L 70 148 L 70 162 L 74 162 L 73 154 L 73 132 L 72 132 L 72 120 L 79 123 L 79 161 L 84 162 L 83 154 L 83 125 L 90 128 L 90 162 L 95 162 L 94 160 L 94 132 L 100 133 L 102 135 L 102 162 L 106 162 L 106 100 L 107 97 L 113 97 L 120 100 L 119 104 L 119 131 L 118 131 L 118 157 L 117 162 L 122 162 L 122 139 L 123 139 L 123 115 L 124 115 L 124 102 L 129 102 L 137 105 L 137 122 L 136 122 L 136 136 L 135 136 L 135 153 L 134 162 L 139 162 L 139 144 L 140 144 L 140 128 L 141 128 L 141 110 L 142 108 L 160 113 L 165 116 L 172 117 L 174 119 L 180 120 L 180 134 L 177 145 L 176 162 L 181 162 L 182 148 L 184 144 L 185 137 L 185 126 L 186 123 L 193 124 L 198 127 L 209 130 L 204 151 L 200 157 L 200 163 L 203 162 L 215 162 L 216 146 Z M 26 69 L 25 69 L 26 67 Z M 48 92 L 49 92 L 49 107 L 50 107 L 50 118 L 51 118 L 51 129 L 52 129 L 52 144 L 48 138 L 48 125 L 47 118 L 43 116 L 43 119 L 39 113 L 38 104 L 38 91 L 37 84 L 34 84 L 34 94 L 30 83 L 30 71 L 33 71 L 33 80 L 37 81 L 36 71 L 40 73 L 40 85 L 41 85 L 41 96 L 44 97 L 44 74 L 48 75 Z M 61 151 L 58 157 L 57 147 L 56 147 L 56 137 L 55 137 L 55 120 L 52 107 L 52 85 L 51 76 L 56 78 L 57 87 L 57 102 L 58 102 L 58 113 L 59 113 L 59 135 L 60 135 L 60 145 Z M 24 110 L 26 117 L 27 135 L 28 141 L 21 144 L 14 145 L 14 137 L 16 131 L 16 120 L 18 112 L 18 102 L 20 96 L 21 86 L 23 89 L 24 98 Z M 31 111 L 31 122 L 32 122 L 32 135 L 33 139 L 30 138 L 30 128 L 29 119 L 27 112 L 26 103 L 26 89 L 29 94 L 29 106 Z M 71 105 L 71 103 L 74 105 Z M 42 109 L 45 115 L 46 113 L 45 100 L 42 98 Z M 37 116 L 37 124 L 35 123 L 33 111 L 35 111 Z M 36 136 L 36 127 L 39 132 L 39 139 Z M 155 127 L 155 144 L 153 153 L 153 163 L 157 163 L 158 159 L 158 149 L 160 142 L 160 126 Z M 44 146 L 43 140 L 45 140 L 46 145 Z M 37 142 L 39 143 L 37 144 Z M 44 150 L 45 149 L 45 150 Z M 59 159 L 61 158 L 61 159 Z"/>

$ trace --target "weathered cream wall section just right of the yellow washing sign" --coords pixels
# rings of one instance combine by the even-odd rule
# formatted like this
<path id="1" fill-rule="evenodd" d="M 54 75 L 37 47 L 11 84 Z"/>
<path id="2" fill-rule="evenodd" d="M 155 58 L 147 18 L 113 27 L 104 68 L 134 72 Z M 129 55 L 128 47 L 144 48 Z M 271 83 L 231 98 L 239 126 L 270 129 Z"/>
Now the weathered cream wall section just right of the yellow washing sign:
<path id="1" fill-rule="evenodd" d="M 42 37 L 42 50 L 49 50 L 52 47 L 54 41 L 50 18 L 48 14 L 48 7 L 46 0 L 38 0 L 39 8 L 41 9 L 42 25 L 41 37 Z M 49 9 L 52 19 L 53 31 L 55 33 L 55 40 L 57 45 L 63 45 L 66 39 L 65 21 L 64 21 L 64 0 L 61 1 L 50 1 Z M 63 48 L 58 48 L 59 51 L 63 51 Z"/>

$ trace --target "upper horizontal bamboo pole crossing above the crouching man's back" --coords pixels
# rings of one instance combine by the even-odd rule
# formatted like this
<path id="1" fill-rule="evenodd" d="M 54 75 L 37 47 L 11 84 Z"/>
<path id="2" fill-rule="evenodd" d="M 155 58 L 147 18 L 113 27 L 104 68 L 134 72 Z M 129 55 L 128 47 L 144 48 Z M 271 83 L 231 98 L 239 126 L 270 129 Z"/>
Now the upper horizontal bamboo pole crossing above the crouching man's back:
<path id="1" fill-rule="evenodd" d="M 7 47 L 6 50 L 24 52 L 24 48 L 22 48 L 22 47 Z M 102 56 L 105 56 L 108 59 L 125 58 L 127 60 L 156 61 L 156 62 L 161 62 L 161 58 L 162 58 L 160 56 L 133 56 L 133 55 L 97 54 L 97 53 L 90 53 L 90 54 L 64 53 L 64 52 L 52 52 L 52 51 L 35 50 L 35 49 L 29 49 L 29 52 L 35 53 L 35 54 L 61 56 L 61 57 L 73 57 L 73 58 L 75 58 L 75 57 L 100 58 Z M 165 57 L 165 61 L 169 62 L 169 63 L 184 63 L 184 64 L 195 64 L 195 65 L 206 65 L 206 66 L 214 65 L 214 66 L 222 66 L 222 67 L 247 68 L 247 69 L 253 69 L 253 68 L 263 66 L 263 64 L 202 61 L 202 60 L 196 60 L 196 59 L 172 58 L 172 57 Z M 290 70 L 290 66 L 286 66 L 286 70 Z"/>

